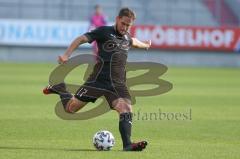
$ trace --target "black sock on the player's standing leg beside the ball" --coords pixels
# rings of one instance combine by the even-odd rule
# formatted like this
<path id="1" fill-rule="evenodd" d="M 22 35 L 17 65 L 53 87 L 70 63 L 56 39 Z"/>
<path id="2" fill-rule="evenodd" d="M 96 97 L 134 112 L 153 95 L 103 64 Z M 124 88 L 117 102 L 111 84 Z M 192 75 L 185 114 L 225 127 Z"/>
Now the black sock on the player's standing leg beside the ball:
<path id="1" fill-rule="evenodd" d="M 123 148 L 131 144 L 132 113 L 120 114 L 119 131 L 122 137 Z"/>

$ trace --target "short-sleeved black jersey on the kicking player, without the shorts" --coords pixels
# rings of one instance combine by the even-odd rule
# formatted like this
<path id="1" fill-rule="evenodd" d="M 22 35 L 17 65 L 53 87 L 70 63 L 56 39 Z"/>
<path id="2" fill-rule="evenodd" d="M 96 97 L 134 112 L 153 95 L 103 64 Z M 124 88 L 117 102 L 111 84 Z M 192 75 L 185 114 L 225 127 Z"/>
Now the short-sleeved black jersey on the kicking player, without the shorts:
<path id="1" fill-rule="evenodd" d="M 89 43 L 96 40 L 102 61 L 96 64 L 90 79 L 109 80 L 115 85 L 125 83 L 127 53 L 132 45 L 130 34 L 121 35 L 114 26 L 102 26 L 84 35 Z"/>

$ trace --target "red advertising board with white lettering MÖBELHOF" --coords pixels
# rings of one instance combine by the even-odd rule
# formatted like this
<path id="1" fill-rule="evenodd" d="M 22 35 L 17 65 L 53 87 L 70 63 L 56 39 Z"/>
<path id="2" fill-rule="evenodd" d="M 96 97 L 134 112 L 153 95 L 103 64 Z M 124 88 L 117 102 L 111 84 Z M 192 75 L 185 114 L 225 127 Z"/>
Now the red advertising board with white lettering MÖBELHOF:
<path id="1" fill-rule="evenodd" d="M 136 25 L 131 34 L 152 48 L 202 51 L 239 51 L 240 28 Z"/>

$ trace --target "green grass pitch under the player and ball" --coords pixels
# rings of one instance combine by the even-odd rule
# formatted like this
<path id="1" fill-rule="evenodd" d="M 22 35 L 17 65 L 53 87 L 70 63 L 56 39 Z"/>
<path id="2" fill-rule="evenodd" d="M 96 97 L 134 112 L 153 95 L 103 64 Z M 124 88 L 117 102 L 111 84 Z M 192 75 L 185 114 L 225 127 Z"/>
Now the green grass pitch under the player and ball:
<path id="1" fill-rule="evenodd" d="M 162 78 L 173 83 L 173 89 L 160 96 L 137 97 L 134 105 L 132 138 L 146 139 L 147 149 L 122 152 L 115 112 L 85 121 L 56 116 L 58 97 L 41 92 L 54 67 L 0 64 L 1 159 L 240 156 L 240 69 L 170 67 Z M 77 83 L 82 72 L 74 70 L 67 80 Z M 92 136 L 101 129 L 114 134 L 112 151 L 94 150 Z"/>

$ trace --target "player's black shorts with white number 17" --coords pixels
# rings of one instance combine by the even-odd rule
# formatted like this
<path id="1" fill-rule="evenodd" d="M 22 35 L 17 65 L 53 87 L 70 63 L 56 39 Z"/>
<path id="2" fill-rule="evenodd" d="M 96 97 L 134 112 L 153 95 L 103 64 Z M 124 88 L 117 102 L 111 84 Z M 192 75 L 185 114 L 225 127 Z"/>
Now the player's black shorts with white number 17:
<path id="1" fill-rule="evenodd" d="M 103 70 L 106 70 L 103 68 Z M 99 97 L 104 96 L 111 108 L 112 102 L 118 98 L 125 98 L 131 102 L 131 96 L 125 82 L 114 84 L 109 78 L 109 72 L 98 73 L 99 66 L 94 68 L 93 73 L 88 80 L 82 85 L 75 97 L 83 102 L 95 102 Z"/>

